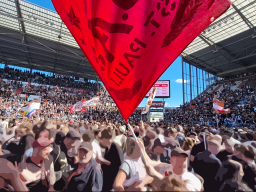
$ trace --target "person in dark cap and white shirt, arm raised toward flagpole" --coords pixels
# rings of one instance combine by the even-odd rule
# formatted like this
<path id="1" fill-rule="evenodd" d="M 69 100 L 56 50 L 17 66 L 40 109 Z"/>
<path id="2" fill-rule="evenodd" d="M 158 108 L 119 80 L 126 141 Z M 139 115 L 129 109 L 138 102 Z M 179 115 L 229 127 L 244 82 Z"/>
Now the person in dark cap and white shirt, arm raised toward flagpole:
<path id="1" fill-rule="evenodd" d="M 143 162 L 149 176 L 153 177 L 151 186 L 153 191 L 202 191 L 202 178 L 188 172 L 189 152 L 176 147 L 171 152 L 171 164 L 150 160 L 142 143 L 141 149 Z M 200 178 L 200 179 L 199 179 Z"/>

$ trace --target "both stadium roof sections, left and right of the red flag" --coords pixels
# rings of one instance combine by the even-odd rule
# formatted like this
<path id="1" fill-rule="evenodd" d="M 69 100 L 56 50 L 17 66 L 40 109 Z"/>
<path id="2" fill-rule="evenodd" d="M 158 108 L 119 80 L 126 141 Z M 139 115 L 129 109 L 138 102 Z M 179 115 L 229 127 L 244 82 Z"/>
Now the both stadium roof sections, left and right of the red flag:
<path id="1" fill-rule="evenodd" d="M 256 70 L 255 13 L 255 0 L 233 0 L 181 56 L 217 76 Z M 97 78 L 59 15 L 23 0 L 0 0 L 0 63 Z"/>

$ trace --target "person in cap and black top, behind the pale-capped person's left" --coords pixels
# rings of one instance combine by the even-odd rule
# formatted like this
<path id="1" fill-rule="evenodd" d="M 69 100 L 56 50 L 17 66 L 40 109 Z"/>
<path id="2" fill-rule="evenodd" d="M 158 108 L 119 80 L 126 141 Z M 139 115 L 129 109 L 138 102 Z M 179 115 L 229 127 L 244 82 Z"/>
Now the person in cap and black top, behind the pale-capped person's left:
<path id="1" fill-rule="evenodd" d="M 70 172 L 77 167 L 76 158 L 69 156 L 68 151 L 74 148 L 75 143 L 80 140 L 80 133 L 75 129 L 70 129 L 67 135 L 59 141 L 60 144 L 56 145 L 51 153 L 52 157 L 54 157 L 54 170 L 57 177 L 54 188 L 58 191 L 61 191 L 66 186 Z"/>

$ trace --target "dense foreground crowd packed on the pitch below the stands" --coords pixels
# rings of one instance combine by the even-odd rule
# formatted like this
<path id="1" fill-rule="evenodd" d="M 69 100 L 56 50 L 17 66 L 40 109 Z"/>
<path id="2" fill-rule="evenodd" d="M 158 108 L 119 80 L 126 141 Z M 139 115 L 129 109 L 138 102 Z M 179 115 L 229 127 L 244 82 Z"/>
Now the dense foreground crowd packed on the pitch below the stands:
<path id="1" fill-rule="evenodd" d="M 0 190 L 254 191 L 251 129 L 114 118 L 2 119 Z"/>

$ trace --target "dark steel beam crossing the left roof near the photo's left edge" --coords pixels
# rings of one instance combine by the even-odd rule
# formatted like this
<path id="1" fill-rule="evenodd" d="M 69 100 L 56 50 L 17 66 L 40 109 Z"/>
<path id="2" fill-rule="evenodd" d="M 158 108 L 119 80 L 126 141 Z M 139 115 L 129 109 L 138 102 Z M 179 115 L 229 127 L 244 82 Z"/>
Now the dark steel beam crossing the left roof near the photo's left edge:
<path id="1" fill-rule="evenodd" d="M 16 9 L 17 9 L 18 18 L 20 19 L 19 20 L 19 28 L 20 28 L 20 33 L 22 35 L 21 43 L 23 45 L 23 49 L 25 51 L 28 64 L 30 65 L 30 69 L 32 69 L 32 62 L 30 60 L 28 48 L 26 46 L 27 45 L 26 29 L 25 29 L 25 25 L 24 25 L 24 22 L 23 22 L 23 18 L 22 18 L 22 13 L 21 13 L 19 0 L 15 0 L 15 5 L 16 5 Z"/>

